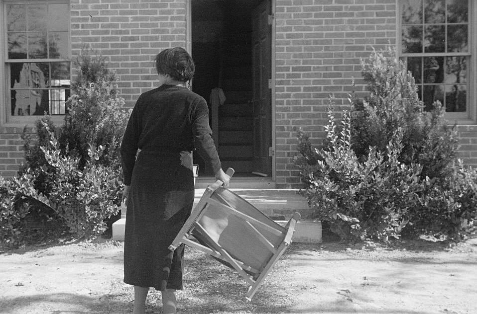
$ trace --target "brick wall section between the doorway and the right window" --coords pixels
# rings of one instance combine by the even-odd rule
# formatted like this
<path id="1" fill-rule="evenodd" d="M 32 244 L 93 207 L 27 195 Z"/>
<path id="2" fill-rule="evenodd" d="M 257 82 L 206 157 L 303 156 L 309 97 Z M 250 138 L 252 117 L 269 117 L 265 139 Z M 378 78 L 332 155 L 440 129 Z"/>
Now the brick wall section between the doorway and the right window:
<path id="1" fill-rule="evenodd" d="M 276 1 L 276 169 L 278 187 L 299 187 L 297 130 L 321 143 L 328 96 L 337 109 L 363 91 L 359 58 L 395 44 L 395 0 Z"/>

